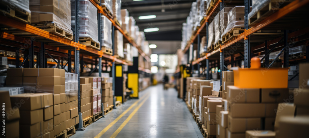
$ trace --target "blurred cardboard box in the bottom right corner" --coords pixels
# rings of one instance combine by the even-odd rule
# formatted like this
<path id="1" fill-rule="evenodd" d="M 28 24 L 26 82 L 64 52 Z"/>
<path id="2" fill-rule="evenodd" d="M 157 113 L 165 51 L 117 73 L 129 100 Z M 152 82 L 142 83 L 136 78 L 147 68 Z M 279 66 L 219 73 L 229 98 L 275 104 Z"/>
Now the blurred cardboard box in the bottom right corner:
<path id="1" fill-rule="evenodd" d="M 300 70 L 302 68 L 299 68 Z M 282 117 L 279 120 L 279 128 L 276 131 L 276 138 L 305 138 L 308 137 L 309 117 Z"/>

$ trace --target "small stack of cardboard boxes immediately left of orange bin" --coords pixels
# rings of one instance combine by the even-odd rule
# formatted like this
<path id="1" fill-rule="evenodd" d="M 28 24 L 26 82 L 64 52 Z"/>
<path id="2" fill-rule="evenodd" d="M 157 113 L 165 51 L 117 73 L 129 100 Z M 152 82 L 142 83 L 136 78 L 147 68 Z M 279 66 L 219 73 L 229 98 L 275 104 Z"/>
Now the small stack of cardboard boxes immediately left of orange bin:
<path id="1" fill-rule="evenodd" d="M 226 99 L 227 86 L 234 85 L 234 73 L 233 71 L 222 72 L 222 97 Z"/>

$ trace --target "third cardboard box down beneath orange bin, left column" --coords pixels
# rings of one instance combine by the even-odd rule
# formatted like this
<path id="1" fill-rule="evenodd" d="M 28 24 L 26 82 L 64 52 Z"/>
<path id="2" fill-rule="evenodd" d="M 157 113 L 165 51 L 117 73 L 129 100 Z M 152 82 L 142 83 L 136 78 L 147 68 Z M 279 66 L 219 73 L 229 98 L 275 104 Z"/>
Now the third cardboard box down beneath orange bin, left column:
<path id="1" fill-rule="evenodd" d="M 261 118 L 228 117 L 228 128 L 231 132 L 246 132 L 246 130 L 261 130 Z"/>

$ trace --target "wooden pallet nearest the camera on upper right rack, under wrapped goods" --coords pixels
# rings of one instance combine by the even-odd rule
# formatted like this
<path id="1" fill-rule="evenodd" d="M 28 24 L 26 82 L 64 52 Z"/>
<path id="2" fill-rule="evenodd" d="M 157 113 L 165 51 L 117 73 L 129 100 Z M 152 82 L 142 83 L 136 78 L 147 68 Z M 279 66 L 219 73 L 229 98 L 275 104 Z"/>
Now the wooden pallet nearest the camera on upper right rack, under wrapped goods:
<path id="1" fill-rule="evenodd" d="M 249 19 L 249 26 L 256 25 L 282 7 L 288 5 L 290 2 L 292 2 L 292 0 L 270 0 L 270 2 L 265 3 L 265 5 Z"/>

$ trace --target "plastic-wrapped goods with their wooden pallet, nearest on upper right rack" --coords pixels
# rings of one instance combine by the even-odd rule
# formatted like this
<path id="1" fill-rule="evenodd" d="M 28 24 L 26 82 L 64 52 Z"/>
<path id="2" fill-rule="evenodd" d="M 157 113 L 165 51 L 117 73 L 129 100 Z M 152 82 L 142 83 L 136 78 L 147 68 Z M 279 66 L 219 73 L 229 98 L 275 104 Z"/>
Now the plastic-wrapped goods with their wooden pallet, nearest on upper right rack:
<path id="1" fill-rule="evenodd" d="M 249 26 L 252 27 L 256 25 L 292 1 L 293 0 L 252 0 L 252 11 L 248 15 Z"/>

